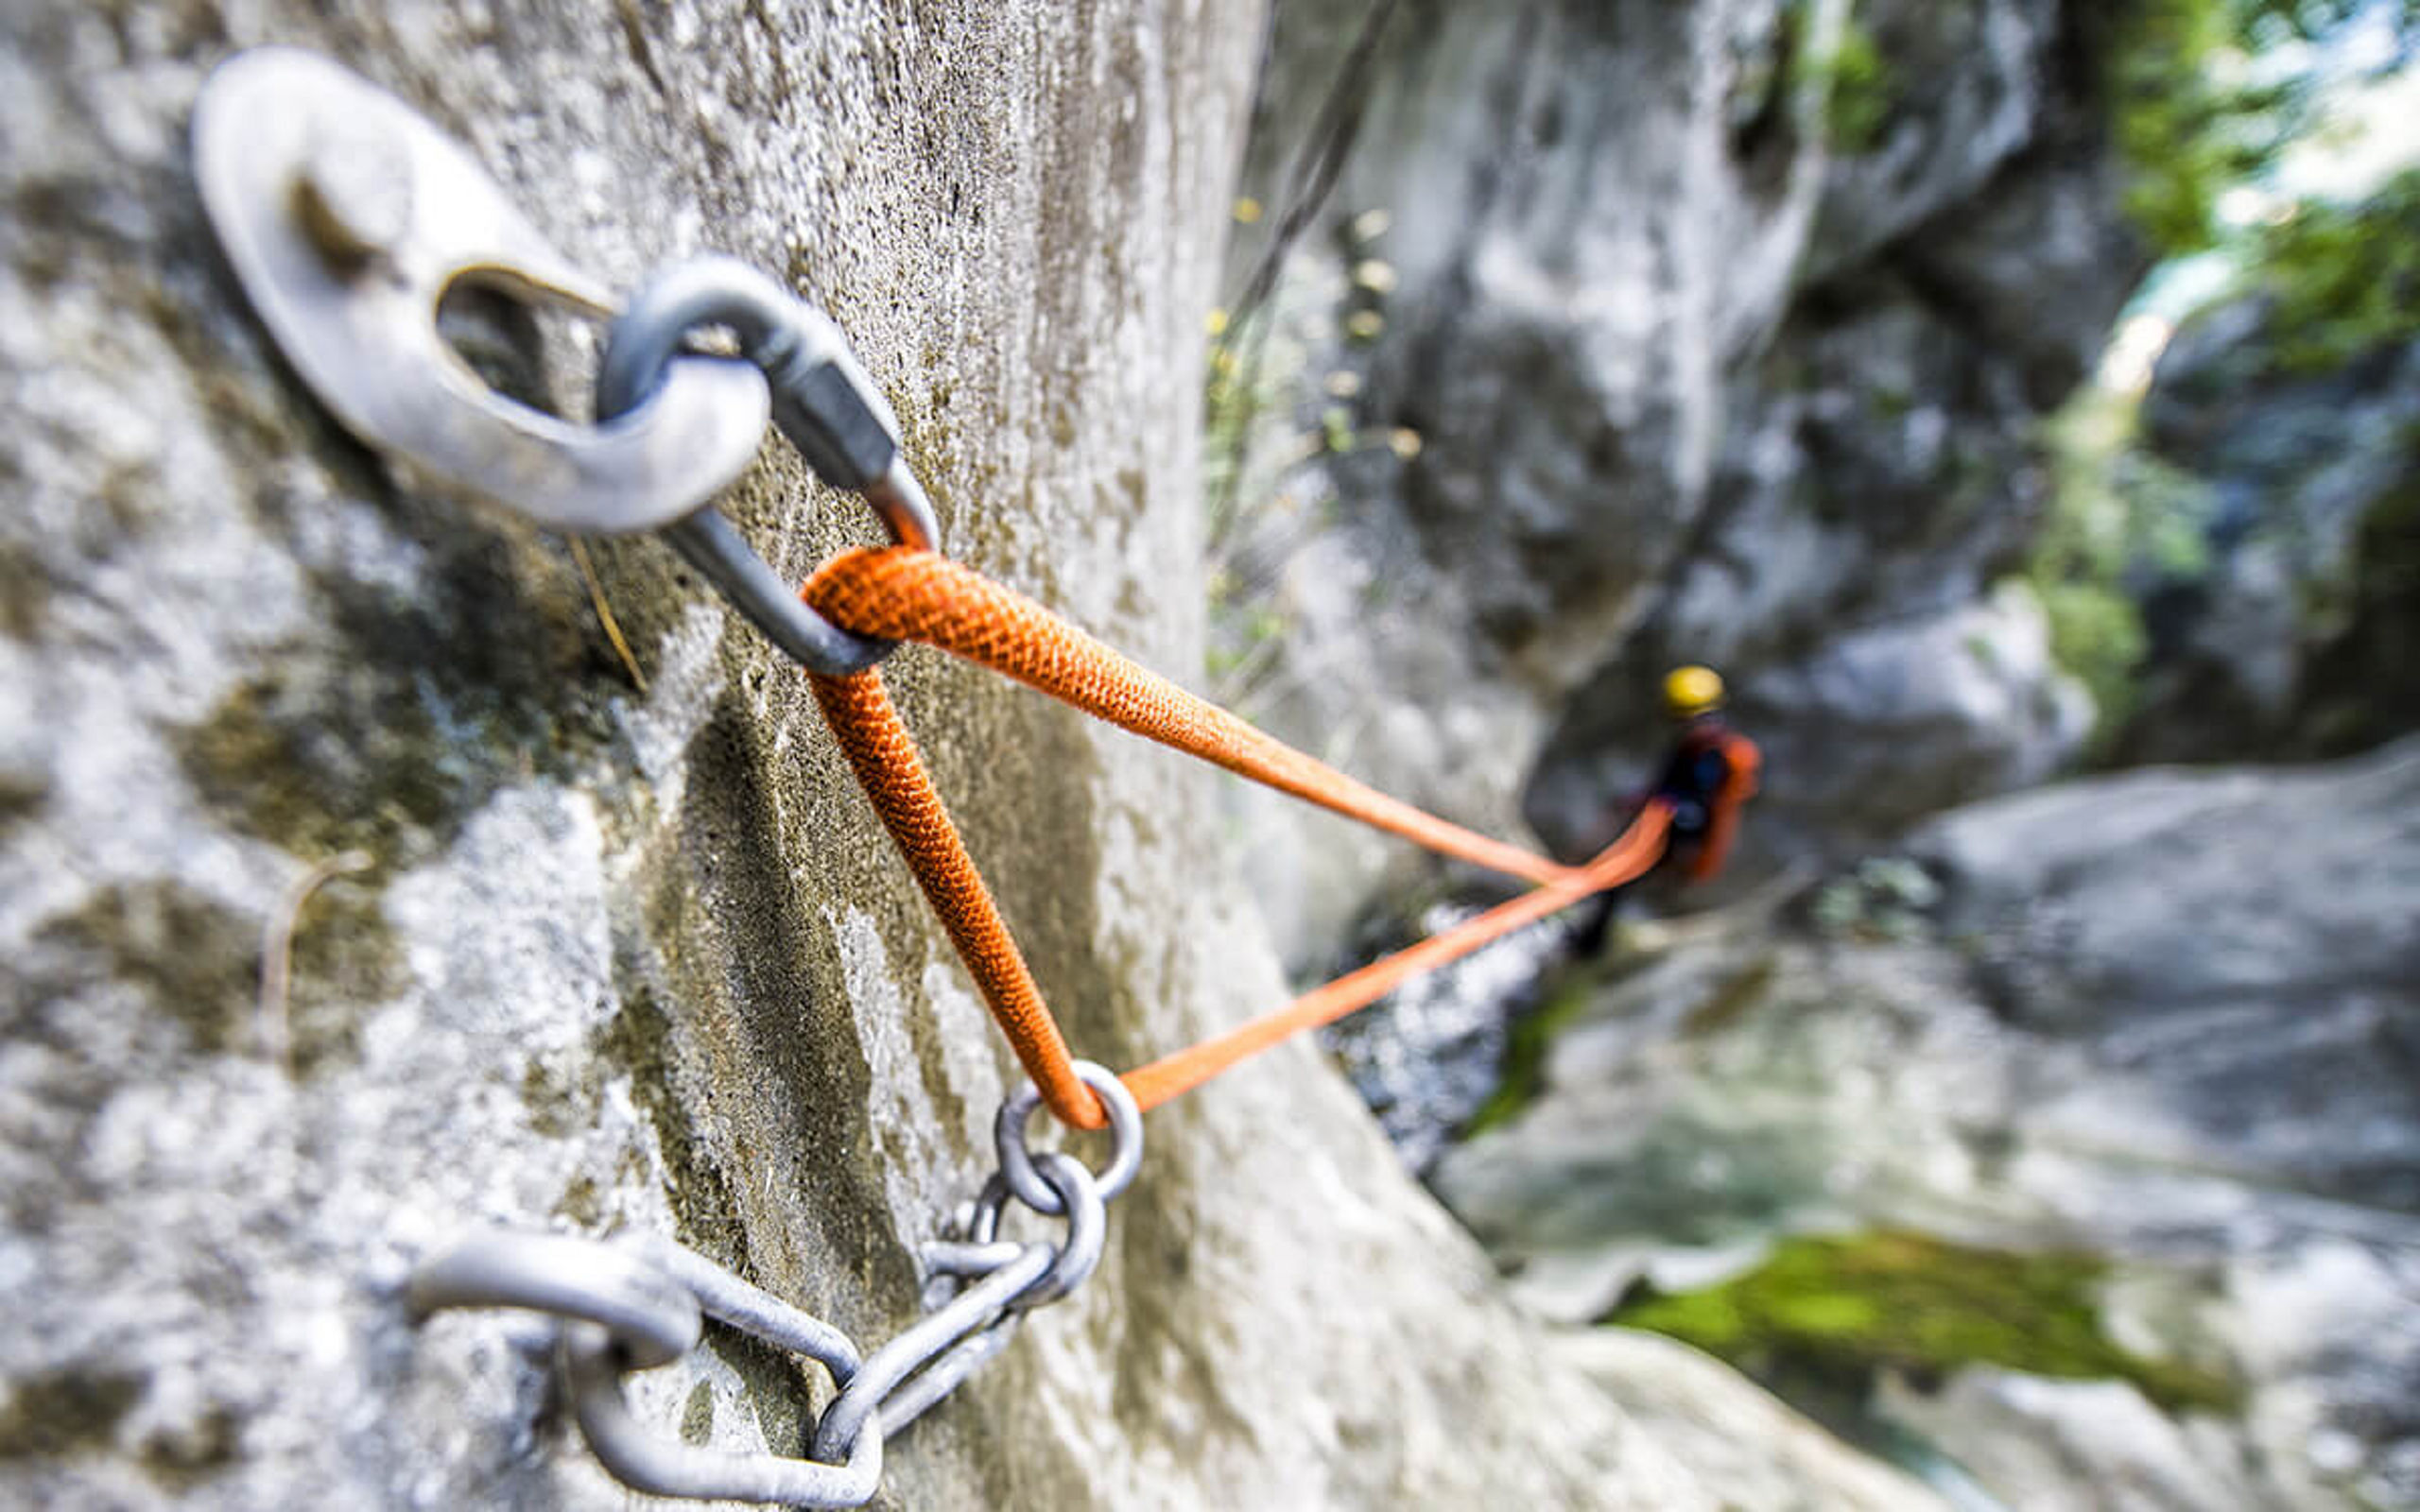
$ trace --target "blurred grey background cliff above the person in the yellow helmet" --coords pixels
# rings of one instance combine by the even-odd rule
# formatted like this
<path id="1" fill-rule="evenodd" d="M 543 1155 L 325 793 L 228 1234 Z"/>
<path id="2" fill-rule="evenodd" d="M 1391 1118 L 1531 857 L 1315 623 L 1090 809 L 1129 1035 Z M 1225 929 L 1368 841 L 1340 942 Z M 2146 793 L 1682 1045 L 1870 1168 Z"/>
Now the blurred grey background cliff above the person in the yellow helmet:
<path id="1" fill-rule="evenodd" d="M 1711 660 L 1805 735 L 1750 876 L 2047 777 L 2086 711 L 2038 610 L 1980 605 L 2040 508 L 2033 426 L 2142 271 L 2098 10 L 1406 2 L 1350 75 L 1362 15 L 1278 7 L 1246 165 L 1283 225 L 1360 80 L 1273 334 L 1234 339 L 1309 380 L 1241 467 L 1237 634 L 1285 629 L 1256 711 L 1580 847 L 1663 743 L 1660 673 Z"/>

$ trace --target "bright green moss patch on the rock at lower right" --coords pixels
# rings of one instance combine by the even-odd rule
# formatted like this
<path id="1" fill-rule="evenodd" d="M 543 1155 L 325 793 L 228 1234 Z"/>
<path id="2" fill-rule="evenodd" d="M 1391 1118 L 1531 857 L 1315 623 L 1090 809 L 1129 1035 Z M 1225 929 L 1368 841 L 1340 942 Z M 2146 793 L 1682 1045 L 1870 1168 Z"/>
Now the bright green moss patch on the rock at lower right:
<path id="1" fill-rule="evenodd" d="M 1982 1251 L 1919 1234 L 1786 1239 L 1721 1287 L 1648 1294 L 1604 1321 L 1667 1333 L 1769 1384 L 1863 1393 L 1885 1369 L 1936 1381 L 1996 1364 L 2132 1381 L 2168 1410 L 2236 1410 L 2234 1381 L 2108 1338 L 2096 1302 L 2105 1270 L 2093 1256 Z"/>

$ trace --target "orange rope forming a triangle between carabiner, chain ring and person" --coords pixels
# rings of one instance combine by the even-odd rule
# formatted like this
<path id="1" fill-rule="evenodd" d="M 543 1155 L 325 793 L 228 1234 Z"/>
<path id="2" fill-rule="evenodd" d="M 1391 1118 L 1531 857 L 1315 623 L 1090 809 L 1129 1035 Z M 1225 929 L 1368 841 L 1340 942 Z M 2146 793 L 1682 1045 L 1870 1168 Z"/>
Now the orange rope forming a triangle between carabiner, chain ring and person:
<path id="1" fill-rule="evenodd" d="M 1147 740 L 1435 852 L 1539 883 L 1512 902 L 1316 987 L 1275 1014 L 1128 1072 L 1123 1081 L 1145 1108 L 1200 1086 L 1292 1033 L 1384 997 L 1418 970 L 1445 965 L 1590 893 L 1621 885 L 1663 856 L 1670 823 L 1663 803 L 1648 803 L 1629 832 L 1585 866 L 1563 866 L 1450 825 L 1273 740 L 1234 714 L 1130 663 L 1033 600 L 932 552 L 915 547 L 847 552 L 808 578 L 801 595 L 832 624 L 857 634 L 939 646 Z M 811 677 L 816 702 L 857 781 L 864 784 L 866 798 L 874 801 L 917 885 L 932 900 L 1043 1103 L 1072 1125 L 1101 1127 L 1101 1103 L 1077 1079 L 1067 1038 L 1043 1004 L 1041 987 L 1033 985 L 1033 973 L 1026 970 L 1024 953 L 999 919 L 973 856 L 966 854 L 966 842 L 949 820 L 881 673 Z"/>

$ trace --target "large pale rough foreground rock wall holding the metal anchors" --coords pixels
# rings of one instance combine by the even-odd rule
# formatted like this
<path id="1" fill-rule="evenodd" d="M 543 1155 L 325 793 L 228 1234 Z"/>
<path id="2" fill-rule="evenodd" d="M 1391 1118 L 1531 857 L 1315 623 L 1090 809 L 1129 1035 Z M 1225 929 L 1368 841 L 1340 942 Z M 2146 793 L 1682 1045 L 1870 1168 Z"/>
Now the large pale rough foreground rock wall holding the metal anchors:
<path id="1" fill-rule="evenodd" d="M 886 1338 L 990 1164 L 1004 1055 L 794 673 L 663 549 L 600 544 L 634 692 L 561 542 L 397 486 L 293 382 L 201 223 L 194 92 L 230 48 L 317 46 L 607 281 L 702 247 L 791 278 L 953 549 L 1183 673 L 1183 353 L 1254 29 L 714 0 L 0 27 L 0 1500 L 627 1505 L 540 1328 L 414 1328 L 414 1258 L 482 1222 L 666 1231 Z M 774 452 L 731 508 L 789 573 L 864 530 Z M 1200 881 L 1210 777 L 929 656 L 895 680 L 1077 1045 L 1133 1062 L 1280 992 Z M 278 1064 L 261 934 L 346 847 L 370 868 L 300 914 Z M 782 1449 L 818 1396 L 728 1338 L 636 1389 Z M 1921 1505 L 1740 1381 L 1692 1398 L 1791 1468 L 1667 1447 L 1621 1403 L 1687 1403 L 1525 1321 L 1297 1048 L 1154 1118 L 1099 1277 L 895 1447 L 888 1497 L 1779 1507 L 1837 1471 L 1839 1502 Z"/>

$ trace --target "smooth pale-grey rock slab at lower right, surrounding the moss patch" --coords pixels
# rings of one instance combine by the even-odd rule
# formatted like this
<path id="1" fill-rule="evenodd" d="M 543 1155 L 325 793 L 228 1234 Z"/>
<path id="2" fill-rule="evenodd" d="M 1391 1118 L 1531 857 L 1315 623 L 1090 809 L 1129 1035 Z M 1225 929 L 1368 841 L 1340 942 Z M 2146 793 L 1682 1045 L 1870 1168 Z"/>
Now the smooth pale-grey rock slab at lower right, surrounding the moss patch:
<path id="1" fill-rule="evenodd" d="M 1784 1234 L 2108 1256 L 2108 1333 L 2238 1410 L 2006 1372 L 1883 1410 L 2006 1505 L 2420 1505 L 2415 801 L 2403 743 L 1958 810 L 1890 907 L 1839 883 L 1842 939 L 1699 931 L 1602 987 L 1437 1190 L 1573 1318 Z"/>

